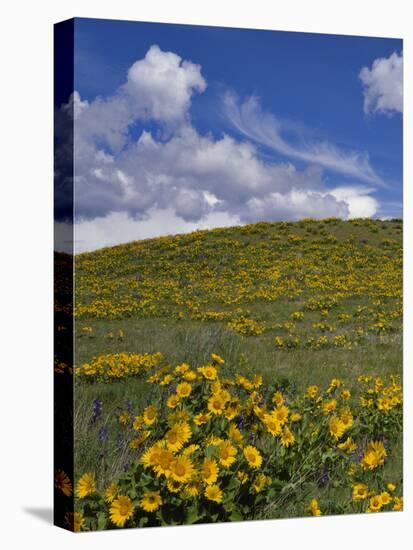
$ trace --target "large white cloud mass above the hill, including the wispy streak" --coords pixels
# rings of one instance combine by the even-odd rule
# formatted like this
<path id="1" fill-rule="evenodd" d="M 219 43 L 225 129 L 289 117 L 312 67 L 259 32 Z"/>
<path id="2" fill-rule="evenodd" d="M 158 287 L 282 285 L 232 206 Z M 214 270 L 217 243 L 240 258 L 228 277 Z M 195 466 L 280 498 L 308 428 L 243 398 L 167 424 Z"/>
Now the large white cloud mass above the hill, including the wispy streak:
<path id="1" fill-rule="evenodd" d="M 256 98 L 240 104 L 226 97 L 242 139 L 201 135 L 190 108 L 206 88 L 199 65 L 153 45 L 113 95 L 89 102 L 75 92 L 63 106 L 61 116 L 74 116 L 77 252 L 196 228 L 375 214 L 372 184 L 380 178 L 366 155 L 328 143 L 290 144 Z M 285 162 L 263 160 L 260 145 Z M 67 151 L 62 144 L 57 153 L 64 158 Z M 350 182 L 329 190 L 325 169 Z M 64 226 L 62 215 L 61 234 Z"/>

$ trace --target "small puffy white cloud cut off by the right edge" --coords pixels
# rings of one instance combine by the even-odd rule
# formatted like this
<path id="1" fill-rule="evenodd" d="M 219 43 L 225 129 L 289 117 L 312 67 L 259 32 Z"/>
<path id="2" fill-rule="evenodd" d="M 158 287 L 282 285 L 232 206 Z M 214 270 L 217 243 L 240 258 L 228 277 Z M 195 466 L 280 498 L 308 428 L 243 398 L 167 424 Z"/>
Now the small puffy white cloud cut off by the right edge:
<path id="1" fill-rule="evenodd" d="M 363 67 L 359 74 L 363 84 L 363 109 L 368 113 L 403 112 L 403 54 L 373 61 L 371 69 Z"/>

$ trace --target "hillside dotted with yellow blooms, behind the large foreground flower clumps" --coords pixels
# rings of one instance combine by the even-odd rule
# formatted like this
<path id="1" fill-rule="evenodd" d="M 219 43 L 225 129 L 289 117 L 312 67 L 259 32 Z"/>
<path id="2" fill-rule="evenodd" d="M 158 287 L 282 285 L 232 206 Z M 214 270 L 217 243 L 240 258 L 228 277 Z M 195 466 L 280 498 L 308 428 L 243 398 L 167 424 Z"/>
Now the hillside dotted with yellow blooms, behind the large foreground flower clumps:
<path id="1" fill-rule="evenodd" d="M 78 364 L 117 351 L 198 364 L 216 351 L 303 382 L 321 366 L 401 366 L 400 220 L 257 223 L 75 261 Z"/>

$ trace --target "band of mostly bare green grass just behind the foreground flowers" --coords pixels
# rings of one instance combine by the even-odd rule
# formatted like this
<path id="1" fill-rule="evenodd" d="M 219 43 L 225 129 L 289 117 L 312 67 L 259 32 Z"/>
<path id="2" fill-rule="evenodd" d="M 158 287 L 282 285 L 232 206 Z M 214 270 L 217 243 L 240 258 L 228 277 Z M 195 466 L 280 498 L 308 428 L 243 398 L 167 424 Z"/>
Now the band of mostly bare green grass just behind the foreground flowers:
<path id="1" fill-rule="evenodd" d="M 389 342 L 372 337 L 370 343 L 353 349 L 279 350 L 271 335 L 241 336 L 222 323 L 201 321 L 174 321 L 168 319 L 134 319 L 125 322 L 96 320 L 93 336 L 76 340 L 78 363 L 93 356 L 118 353 L 155 353 L 160 351 L 171 364 L 188 362 L 200 366 L 211 353 L 225 357 L 228 368 L 245 373 L 259 372 L 264 379 L 289 378 L 299 389 L 309 384 L 328 384 L 331 378 L 344 378 L 351 384 L 359 374 L 385 375 L 400 373 L 402 364 L 401 335 L 392 335 Z M 125 337 L 105 338 L 109 330 L 122 329 Z M 115 387 L 123 393 L 124 382 L 94 385 L 95 391 L 113 392 Z M 83 391 L 83 386 L 77 392 Z"/>

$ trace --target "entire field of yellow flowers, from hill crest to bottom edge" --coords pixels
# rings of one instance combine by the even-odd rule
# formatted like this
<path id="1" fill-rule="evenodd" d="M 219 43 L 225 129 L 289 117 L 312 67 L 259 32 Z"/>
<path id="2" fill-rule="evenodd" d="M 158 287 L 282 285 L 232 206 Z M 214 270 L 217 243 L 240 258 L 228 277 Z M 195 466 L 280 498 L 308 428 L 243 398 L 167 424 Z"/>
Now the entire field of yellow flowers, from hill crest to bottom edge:
<path id="1" fill-rule="evenodd" d="M 402 509 L 400 220 L 81 254 L 74 309 L 69 528 Z"/>

